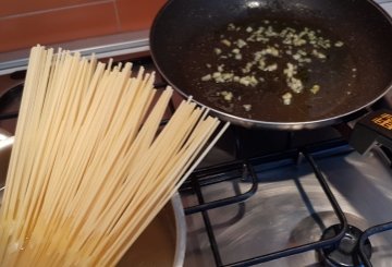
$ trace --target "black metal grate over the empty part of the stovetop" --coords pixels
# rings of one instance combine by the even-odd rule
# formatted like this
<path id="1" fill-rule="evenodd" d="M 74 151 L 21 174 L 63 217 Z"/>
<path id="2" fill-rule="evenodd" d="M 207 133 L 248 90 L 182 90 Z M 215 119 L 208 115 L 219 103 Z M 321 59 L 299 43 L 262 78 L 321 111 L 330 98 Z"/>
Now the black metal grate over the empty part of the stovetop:
<path id="1" fill-rule="evenodd" d="M 323 153 L 328 150 L 329 148 L 335 148 L 339 146 L 347 146 L 346 142 L 344 139 L 334 139 L 329 142 L 319 143 L 317 145 L 313 145 L 309 147 L 303 147 L 303 148 L 296 148 L 296 149 L 289 149 L 281 153 L 275 153 L 271 155 L 266 155 L 262 157 L 254 157 L 246 160 L 236 160 L 232 162 L 221 163 L 219 166 L 210 166 L 207 168 L 198 169 L 196 170 L 189 179 L 183 184 L 180 192 L 181 193 L 189 193 L 193 192 L 198 199 L 198 205 L 185 207 L 185 215 L 191 215 L 195 213 L 200 213 L 203 216 L 203 220 L 206 227 L 206 231 L 209 238 L 210 247 L 213 254 L 216 266 L 219 267 L 237 267 L 237 266 L 253 266 L 260 263 L 270 262 L 273 259 L 287 257 L 294 254 L 299 254 L 308 251 L 318 251 L 320 248 L 331 247 L 331 246 L 338 246 L 340 241 L 346 235 L 350 226 L 347 224 L 347 220 L 345 218 L 344 213 L 342 211 L 342 208 L 340 207 L 339 203 L 336 202 L 336 198 L 334 197 L 330 186 L 328 185 L 328 182 L 322 174 L 320 168 L 317 166 L 317 160 L 315 159 L 317 157 L 318 153 Z M 219 251 L 219 245 L 216 241 L 216 236 L 213 233 L 212 224 L 209 219 L 207 210 L 219 208 L 221 206 L 231 205 L 231 204 L 237 204 L 245 202 L 248 197 L 252 197 L 252 195 L 257 190 L 257 177 L 255 174 L 254 169 L 262 163 L 269 163 L 273 161 L 279 161 L 282 159 L 289 159 L 291 160 L 292 165 L 296 165 L 298 161 L 302 161 L 305 159 L 308 165 L 310 165 L 315 177 L 317 178 L 320 186 L 322 187 L 322 191 L 324 192 L 326 196 L 328 197 L 331 207 L 338 217 L 340 223 L 339 223 L 339 231 L 335 235 L 328 239 L 322 239 L 320 236 L 319 241 L 310 242 L 307 244 L 303 244 L 295 247 L 290 247 L 281 251 L 275 251 L 272 253 L 268 253 L 265 255 L 255 256 L 252 258 L 243 259 L 235 263 L 230 264 L 223 264 L 222 256 Z M 233 170 L 236 170 L 236 172 L 233 172 Z M 246 193 L 241 193 L 235 196 L 231 196 L 228 198 L 222 198 L 213 202 L 206 202 L 201 189 L 204 186 L 209 186 L 211 184 L 216 184 L 223 181 L 234 180 L 237 179 L 238 173 L 243 173 L 243 177 L 248 177 L 248 179 L 252 180 L 252 187 Z M 246 179 L 246 178 L 244 178 Z M 301 186 L 298 186 L 301 191 Z M 299 192 L 303 197 L 307 197 L 305 192 Z M 370 263 L 370 259 L 368 258 L 365 251 L 365 243 L 368 242 L 368 238 L 372 234 L 377 234 L 383 231 L 392 230 L 392 222 L 388 222 L 384 224 L 371 227 L 368 230 L 364 231 L 360 235 L 360 242 L 357 245 L 356 253 L 359 254 L 362 258 L 362 264 L 364 266 L 372 266 Z"/>

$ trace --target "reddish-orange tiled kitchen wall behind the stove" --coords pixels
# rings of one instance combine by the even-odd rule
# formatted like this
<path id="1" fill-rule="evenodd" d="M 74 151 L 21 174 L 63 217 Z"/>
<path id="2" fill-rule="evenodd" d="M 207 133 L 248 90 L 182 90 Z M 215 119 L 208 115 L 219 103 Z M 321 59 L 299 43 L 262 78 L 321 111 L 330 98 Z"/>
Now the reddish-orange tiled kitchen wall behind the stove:
<path id="1" fill-rule="evenodd" d="M 147 29 L 167 0 L 0 0 L 0 52 Z"/>

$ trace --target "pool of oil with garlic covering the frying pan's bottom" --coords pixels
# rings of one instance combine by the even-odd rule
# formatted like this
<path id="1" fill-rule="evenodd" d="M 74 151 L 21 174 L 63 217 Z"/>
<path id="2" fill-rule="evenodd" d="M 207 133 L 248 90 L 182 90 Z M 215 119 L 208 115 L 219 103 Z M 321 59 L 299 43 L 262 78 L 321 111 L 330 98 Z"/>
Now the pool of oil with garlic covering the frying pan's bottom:
<path id="1" fill-rule="evenodd" d="M 333 114 L 359 78 L 348 44 L 332 31 L 282 19 L 206 31 L 189 44 L 184 66 L 196 100 L 265 121 Z"/>

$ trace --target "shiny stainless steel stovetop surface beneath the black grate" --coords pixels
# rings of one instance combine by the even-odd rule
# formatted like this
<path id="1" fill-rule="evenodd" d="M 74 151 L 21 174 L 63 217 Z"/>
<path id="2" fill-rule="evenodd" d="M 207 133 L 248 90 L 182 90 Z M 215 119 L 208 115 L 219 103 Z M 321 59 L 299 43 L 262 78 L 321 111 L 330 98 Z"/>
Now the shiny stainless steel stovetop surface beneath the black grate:
<path id="1" fill-rule="evenodd" d="M 219 153 L 220 158 L 225 155 L 213 153 Z M 209 157 L 207 161 L 216 158 Z M 375 147 L 363 156 L 343 144 L 314 157 L 350 224 L 366 230 L 392 220 L 392 172 L 381 149 Z M 243 203 L 207 211 L 223 265 L 318 241 L 324 229 L 339 223 L 310 166 L 296 161 L 256 165 L 255 195 Z M 205 186 L 201 192 L 205 201 L 211 202 L 245 192 L 249 186 L 250 182 L 240 174 L 236 180 Z M 182 199 L 185 207 L 197 203 L 195 195 L 186 192 Z M 186 222 L 184 266 L 216 266 L 201 214 L 186 216 Z M 392 232 L 376 234 L 370 242 L 373 266 L 391 266 Z M 322 265 L 318 254 L 310 251 L 257 266 Z"/>

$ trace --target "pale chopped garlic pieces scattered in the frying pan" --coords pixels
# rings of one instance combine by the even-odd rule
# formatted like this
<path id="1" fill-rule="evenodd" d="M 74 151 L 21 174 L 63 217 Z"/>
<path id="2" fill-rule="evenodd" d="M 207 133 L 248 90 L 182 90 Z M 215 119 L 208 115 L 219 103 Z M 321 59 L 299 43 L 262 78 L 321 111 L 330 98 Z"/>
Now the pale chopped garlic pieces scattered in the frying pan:
<path id="1" fill-rule="evenodd" d="M 262 23 L 262 21 L 261 21 Z M 299 78 L 298 73 L 307 71 L 311 73 L 308 63 L 321 61 L 328 58 L 328 49 L 331 47 L 342 47 L 344 44 L 341 40 L 330 40 L 321 36 L 321 31 L 310 29 L 304 27 L 302 31 L 293 27 L 278 28 L 275 21 L 265 21 L 262 26 L 237 26 L 233 23 L 228 24 L 226 32 L 220 35 L 220 48 L 215 48 L 213 52 L 217 54 L 218 62 L 224 64 L 206 64 L 208 69 L 216 72 L 207 74 L 201 77 L 201 81 L 215 81 L 216 83 L 238 83 L 243 86 L 256 86 L 260 82 L 266 82 L 262 77 L 262 72 L 272 72 L 279 70 L 277 75 L 273 75 L 271 81 L 279 81 L 283 78 L 286 83 L 290 93 L 282 96 L 283 104 L 290 105 L 293 100 L 294 93 L 299 94 L 305 90 L 304 81 Z M 238 34 L 233 32 L 242 31 Z M 235 34 L 232 36 L 232 34 Z M 236 39 L 231 39 L 240 36 Z M 249 54 L 246 46 L 250 43 L 255 46 L 261 46 L 260 50 Z M 228 47 L 228 48 L 224 48 Z M 245 49 L 243 49 L 245 48 Z M 249 61 L 245 61 L 250 58 Z M 277 61 L 277 58 L 281 60 Z M 231 62 L 234 60 L 234 63 Z M 237 61 L 237 62 L 235 62 Z M 291 61 L 291 62 L 287 62 Z M 279 65 L 278 65 L 279 63 Z M 284 64 L 286 64 L 284 66 Z M 231 66 L 232 69 L 229 69 Z M 281 70 L 283 69 L 283 70 Z M 260 72 L 262 71 L 262 72 Z M 283 72 L 283 73 L 282 73 Z M 306 73 L 305 77 L 306 77 Z M 352 76 L 356 77 L 356 69 L 352 69 Z M 269 75 L 269 74 L 267 74 Z M 298 76 L 297 76 L 298 75 Z M 348 84 L 350 86 L 350 84 Z M 310 85 L 307 88 L 311 94 L 317 94 L 320 90 L 318 84 Z M 232 100 L 232 93 L 219 93 L 226 101 Z M 241 99 L 236 97 L 235 99 Z M 233 105 L 232 102 L 230 105 Z M 250 109 L 250 105 L 243 105 L 244 109 Z"/>

